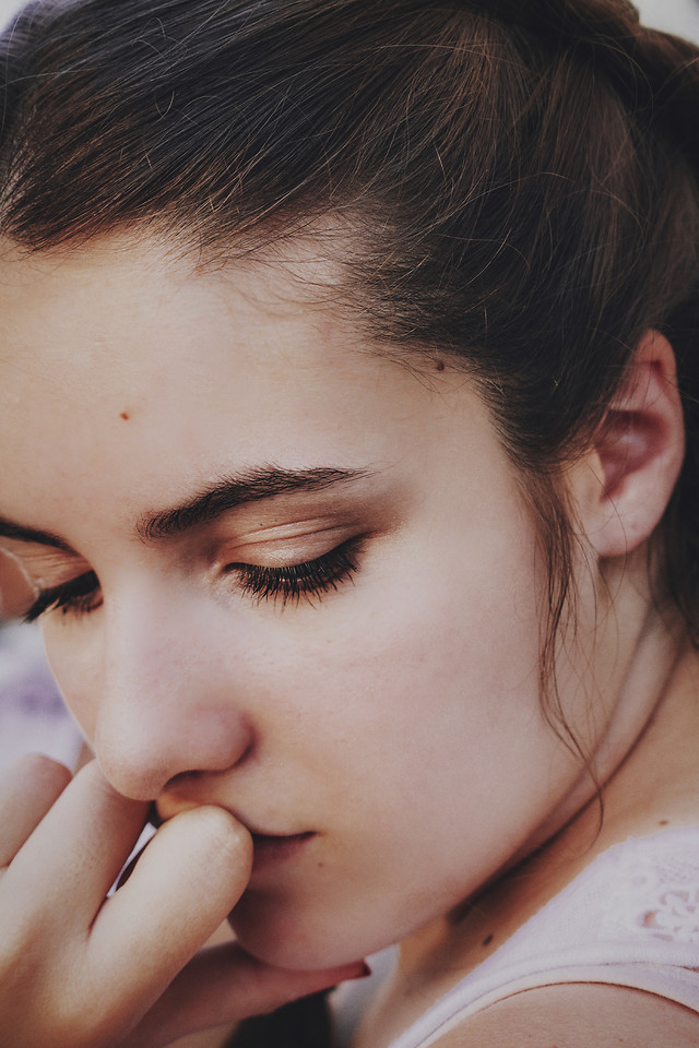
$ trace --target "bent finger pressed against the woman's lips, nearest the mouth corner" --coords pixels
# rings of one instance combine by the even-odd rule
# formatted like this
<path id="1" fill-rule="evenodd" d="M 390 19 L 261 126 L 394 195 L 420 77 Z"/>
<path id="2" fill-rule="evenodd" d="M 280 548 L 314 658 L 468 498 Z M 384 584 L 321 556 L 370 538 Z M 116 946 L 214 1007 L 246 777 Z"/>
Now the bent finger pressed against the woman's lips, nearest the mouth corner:
<path id="1" fill-rule="evenodd" d="M 222 808 L 183 811 L 158 830 L 91 933 L 88 963 L 109 973 L 112 1007 L 151 1007 L 233 909 L 251 867 L 250 834 Z"/>

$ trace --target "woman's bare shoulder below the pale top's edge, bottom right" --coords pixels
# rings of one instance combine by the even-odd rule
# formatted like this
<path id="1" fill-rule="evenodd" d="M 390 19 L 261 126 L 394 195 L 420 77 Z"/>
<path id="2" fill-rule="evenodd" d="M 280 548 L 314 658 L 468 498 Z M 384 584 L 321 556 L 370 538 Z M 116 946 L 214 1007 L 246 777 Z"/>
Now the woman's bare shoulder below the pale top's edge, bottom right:
<path id="1" fill-rule="evenodd" d="M 564 984 L 493 1004 L 435 1048 L 697 1048 L 699 1014 L 641 990 Z"/>

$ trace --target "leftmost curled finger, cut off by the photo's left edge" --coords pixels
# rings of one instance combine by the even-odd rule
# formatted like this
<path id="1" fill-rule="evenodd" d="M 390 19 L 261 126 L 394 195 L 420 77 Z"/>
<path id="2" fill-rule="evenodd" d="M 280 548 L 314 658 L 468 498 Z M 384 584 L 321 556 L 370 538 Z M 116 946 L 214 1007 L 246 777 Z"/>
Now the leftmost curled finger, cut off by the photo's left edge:
<path id="1" fill-rule="evenodd" d="M 0 775 L 0 867 L 9 866 L 71 781 L 71 773 L 42 753 L 28 753 Z"/>

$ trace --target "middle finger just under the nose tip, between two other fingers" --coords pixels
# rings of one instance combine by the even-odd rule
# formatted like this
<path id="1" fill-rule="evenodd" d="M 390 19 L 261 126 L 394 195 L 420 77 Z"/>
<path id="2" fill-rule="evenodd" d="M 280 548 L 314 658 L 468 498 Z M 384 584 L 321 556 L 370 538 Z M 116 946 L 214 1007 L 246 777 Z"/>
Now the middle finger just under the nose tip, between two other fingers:
<path id="1" fill-rule="evenodd" d="M 147 806 L 121 797 L 93 762 L 80 771 L 17 853 L 4 876 L 16 906 L 50 912 L 57 933 L 85 933 L 129 853 Z M 37 905 L 38 901 L 40 904 Z"/>

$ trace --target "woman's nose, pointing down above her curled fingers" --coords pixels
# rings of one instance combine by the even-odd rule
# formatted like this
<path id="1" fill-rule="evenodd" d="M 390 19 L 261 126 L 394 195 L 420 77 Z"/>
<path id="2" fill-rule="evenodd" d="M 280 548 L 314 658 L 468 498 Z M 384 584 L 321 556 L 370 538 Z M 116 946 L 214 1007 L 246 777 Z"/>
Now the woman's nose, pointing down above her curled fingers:
<path id="1" fill-rule="evenodd" d="M 215 615 L 191 603 L 139 586 L 103 609 L 94 749 L 112 786 L 137 800 L 180 776 L 236 767 L 252 747 L 230 628 L 221 635 Z"/>

